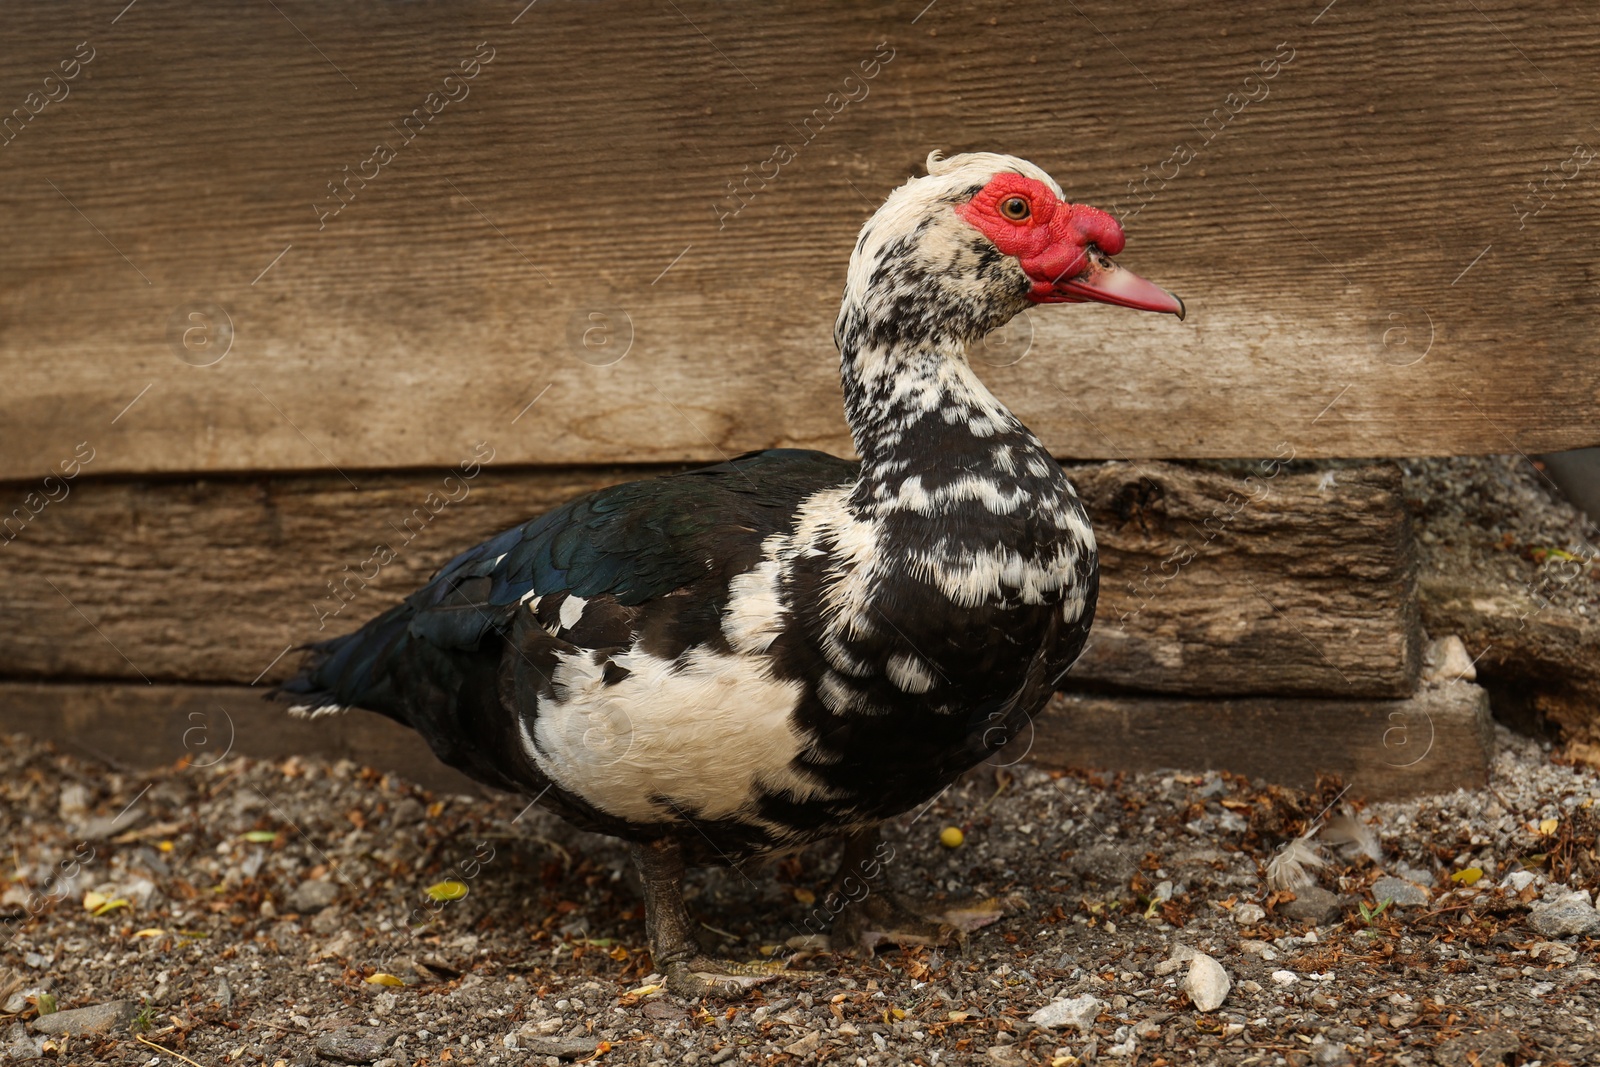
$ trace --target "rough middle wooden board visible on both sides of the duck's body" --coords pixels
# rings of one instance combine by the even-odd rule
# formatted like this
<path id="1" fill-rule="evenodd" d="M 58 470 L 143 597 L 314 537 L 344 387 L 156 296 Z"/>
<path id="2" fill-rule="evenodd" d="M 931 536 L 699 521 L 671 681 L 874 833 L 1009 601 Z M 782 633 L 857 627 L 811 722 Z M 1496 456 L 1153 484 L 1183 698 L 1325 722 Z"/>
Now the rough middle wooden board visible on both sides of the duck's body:
<path id="1" fill-rule="evenodd" d="M 1074 685 L 1410 691 L 1414 576 L 1395 472 L 1253 470 L 1072 470 L 1104 550 Z M 643 474 L 467 464 L 363 474 L 360 491 L 338 475 L 62 483 L 62 499 L 0 531 L 0 677 L 274 681 L 296 662 L 290 645 L 352 630 L 456 552 Z M 378 545 L 394 561 L 381 566 Z"/>

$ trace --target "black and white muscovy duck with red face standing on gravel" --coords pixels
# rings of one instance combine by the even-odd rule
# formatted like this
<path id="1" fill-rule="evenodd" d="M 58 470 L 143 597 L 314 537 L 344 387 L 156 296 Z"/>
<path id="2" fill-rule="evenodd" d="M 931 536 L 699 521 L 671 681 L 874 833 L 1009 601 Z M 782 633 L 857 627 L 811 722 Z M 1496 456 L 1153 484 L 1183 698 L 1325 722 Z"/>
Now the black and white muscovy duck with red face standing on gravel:
<path id="1" fill-rule="evenodd" d="M 578 498 L 312 645 L 280 699 L 395 718 L 477 781 L 630 841 L 678 993 L 763 981 L 702 953 L 685 864 L 842 837 L 840 872 L 872 885 L 835 942 L 933 937 L 878 881 L 875 827 L 1040 710 L 1098 582 L 1077 493 L 966 347 L 1030 304 L 1181 318 L 1122 248 L 1026 160 L 930 155 L 862 227 L 834 328 L 859 464 L 771 450 Z"/>

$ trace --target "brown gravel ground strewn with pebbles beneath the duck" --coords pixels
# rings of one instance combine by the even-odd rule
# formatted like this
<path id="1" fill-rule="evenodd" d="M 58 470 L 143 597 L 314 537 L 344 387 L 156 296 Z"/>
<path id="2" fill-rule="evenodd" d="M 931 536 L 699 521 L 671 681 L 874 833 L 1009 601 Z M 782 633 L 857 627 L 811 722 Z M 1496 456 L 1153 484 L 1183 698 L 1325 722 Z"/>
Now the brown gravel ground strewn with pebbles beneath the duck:
<path id="1" fill-rule="evenodd" d="M 979 768 L 890 829 L 886 877 L 998 897 L 1010 918 L 960 949 L 861 961 L 808 934 L 827 849 L 699 872 L 706 944 L 790 965 L 750 1000 L 702 1005 L 651 992 L 624 851 L 514 797 L 299 758 L 133 776 L 11 737 L 0 1056 L 1600 1062 L 1600 779 L 1499 744 L 1486 790 L 1358 813 L 1334 782 Z M 965 843 L 941 845 L 947 827 Z M 437 893 L 456 899 L 429 896 L 451 880 Z"/>

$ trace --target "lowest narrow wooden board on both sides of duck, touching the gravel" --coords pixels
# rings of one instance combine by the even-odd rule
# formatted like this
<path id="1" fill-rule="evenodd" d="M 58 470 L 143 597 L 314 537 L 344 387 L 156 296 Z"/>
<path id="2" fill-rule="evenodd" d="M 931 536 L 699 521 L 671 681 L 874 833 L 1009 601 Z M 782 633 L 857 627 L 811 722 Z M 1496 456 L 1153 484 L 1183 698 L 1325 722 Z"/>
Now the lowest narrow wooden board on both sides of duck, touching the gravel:
<path id="1" fill-rule="evenodd" d="M 314 723 L 283 715 L 261 688 L 0 683 L 0 734 L 29 733 L 115 765 L 162 766 L 224 755 L 350 758 L 430 789 L 472 792 L 410 729 L 349 712 Z M 995 763 L 1048 768 L 1226 769 L 1309 787 L 1344 776 L 1371 800 L 1482 787 L 1491 753 L 1488 699 L 1458 681 L 1405 701 L 1179 701 L 1072 694 Z"/>

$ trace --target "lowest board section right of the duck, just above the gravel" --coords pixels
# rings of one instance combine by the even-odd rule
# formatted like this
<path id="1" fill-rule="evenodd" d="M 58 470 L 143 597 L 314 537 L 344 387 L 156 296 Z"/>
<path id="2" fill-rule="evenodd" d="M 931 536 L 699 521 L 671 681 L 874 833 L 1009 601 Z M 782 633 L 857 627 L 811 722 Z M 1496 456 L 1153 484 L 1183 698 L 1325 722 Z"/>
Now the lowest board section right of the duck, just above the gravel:
<path id="1" fill-rule="evenodd" d="M 1403 701 L 1166 699 L 1058 694 L 998 760 L 1101 771 L 1234 771 L 1309 789 L 1339 774 L 1389 800 L 1482 789 L 1494 752 L 1488 694 L 1467 681 Z"/>

